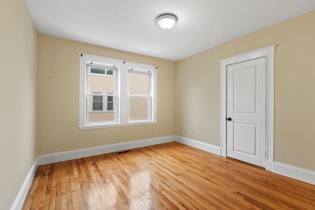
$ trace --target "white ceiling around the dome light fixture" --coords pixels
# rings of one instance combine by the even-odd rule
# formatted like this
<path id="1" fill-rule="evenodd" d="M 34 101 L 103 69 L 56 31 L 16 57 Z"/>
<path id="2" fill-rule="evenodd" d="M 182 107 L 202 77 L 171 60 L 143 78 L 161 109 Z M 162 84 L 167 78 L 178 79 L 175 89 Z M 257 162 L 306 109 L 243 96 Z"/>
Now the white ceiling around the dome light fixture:
<path id="1" fill-rule="evenodd" d="M 38 33 L 173 61 L 315 9 L 315 0 L 25 1 Z M 178 17 L 170 30 L 156 24 L 163 13 Z"/>

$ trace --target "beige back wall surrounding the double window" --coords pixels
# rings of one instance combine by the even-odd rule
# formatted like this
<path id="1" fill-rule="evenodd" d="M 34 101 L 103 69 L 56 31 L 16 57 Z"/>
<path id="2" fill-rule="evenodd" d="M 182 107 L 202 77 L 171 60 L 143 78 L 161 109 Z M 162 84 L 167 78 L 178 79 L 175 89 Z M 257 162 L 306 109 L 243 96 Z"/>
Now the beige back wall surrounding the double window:
<path id="1" fill-rule="evenodd" d="M 38 153 L 174 135 L 175 63 L 38 35 Z M 158 123 L 79 130 L 78 52 L 158 66 Z"/>

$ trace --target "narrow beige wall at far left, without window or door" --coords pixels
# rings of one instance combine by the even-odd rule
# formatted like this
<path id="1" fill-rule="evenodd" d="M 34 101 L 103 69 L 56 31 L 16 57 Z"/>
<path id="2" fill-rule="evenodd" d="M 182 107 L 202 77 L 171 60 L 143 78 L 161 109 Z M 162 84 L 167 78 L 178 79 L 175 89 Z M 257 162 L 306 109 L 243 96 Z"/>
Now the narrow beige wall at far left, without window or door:
<path id="1" fill-rule="evenodd" d="M 0 0 L 0 210 L 10 209 L 37 155 L 36 36 L 24 0 Z"/>

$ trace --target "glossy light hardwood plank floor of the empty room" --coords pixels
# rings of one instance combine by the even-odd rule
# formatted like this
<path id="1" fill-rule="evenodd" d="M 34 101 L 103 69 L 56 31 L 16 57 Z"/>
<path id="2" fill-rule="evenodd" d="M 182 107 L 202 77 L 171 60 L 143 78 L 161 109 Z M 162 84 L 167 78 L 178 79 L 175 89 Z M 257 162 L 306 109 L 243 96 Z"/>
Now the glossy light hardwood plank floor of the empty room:
<path id="1" fill-rule="evenodd" d="M 172 142 L 39 166 L 24 210 L 315 209 L 315 186 Z"/>

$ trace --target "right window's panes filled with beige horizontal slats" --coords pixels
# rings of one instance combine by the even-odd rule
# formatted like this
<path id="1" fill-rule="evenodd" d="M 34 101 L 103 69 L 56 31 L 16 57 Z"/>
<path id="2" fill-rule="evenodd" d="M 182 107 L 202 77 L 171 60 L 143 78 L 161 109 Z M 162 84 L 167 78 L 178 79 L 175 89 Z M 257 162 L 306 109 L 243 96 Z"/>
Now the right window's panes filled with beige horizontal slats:
<path id="1" fill-rule="evenodd" d="M 128 120 L 149 120 L 150 74 L 128 72 Z"/>

